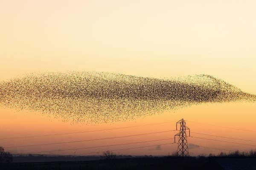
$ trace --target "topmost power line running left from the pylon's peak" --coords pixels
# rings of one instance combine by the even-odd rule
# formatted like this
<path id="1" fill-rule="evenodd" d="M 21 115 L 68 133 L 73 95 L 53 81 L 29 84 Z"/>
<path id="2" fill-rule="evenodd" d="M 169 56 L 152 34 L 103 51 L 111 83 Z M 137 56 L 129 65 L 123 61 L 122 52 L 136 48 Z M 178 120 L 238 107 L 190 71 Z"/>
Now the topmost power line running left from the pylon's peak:
<path id="1" fill-rule="evenodd" d="M 174 122 L 174 121 L 171 121 L 171 122 Z M 153 123 L 153 124 L 136 125 L 136 126 L 126 126 L 126 127 L 116 127 L 116 128 L 100 129 L 100 130 L 88 130 L 88 131 L 81 131 L 81 132 L 69 132 L 69 133 L 55 133 L 55 134 L 36 135 L 36 136 L 10 137 L 10 138 L 1 138 L 0 140 L 6 140 L 6 139 L 21 139 L 21 138 L 35 138 L 35 137 L 44 137 L 44 136 L 58 136 L 58 135 L 67 135 L 67 134 L 76 134 L 76 133 L 99 132 L 99 131 L 106 131 L 106 130 L 125 129 L 125 128 L 131 128 L 131 127 L 141 127 L 141 126 L 149 126 L 149 125 L 160 125 L 160 124 L 171 123 L 171 122 L 160 122 L 160 123 Z"/>

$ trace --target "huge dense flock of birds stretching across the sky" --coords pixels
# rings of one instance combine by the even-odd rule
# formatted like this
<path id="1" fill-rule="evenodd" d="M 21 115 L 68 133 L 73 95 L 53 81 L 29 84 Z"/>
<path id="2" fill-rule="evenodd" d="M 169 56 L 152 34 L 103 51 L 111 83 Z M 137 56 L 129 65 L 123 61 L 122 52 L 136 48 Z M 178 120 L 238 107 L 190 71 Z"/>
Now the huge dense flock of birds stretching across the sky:
<path id="1" fill-rule="evenodd" d="M 256 101 L 209 75 L 157 79 L 104 72 L 28 74 L 0 82 L 0 106 L 102 123 L 208 102 Z"/>

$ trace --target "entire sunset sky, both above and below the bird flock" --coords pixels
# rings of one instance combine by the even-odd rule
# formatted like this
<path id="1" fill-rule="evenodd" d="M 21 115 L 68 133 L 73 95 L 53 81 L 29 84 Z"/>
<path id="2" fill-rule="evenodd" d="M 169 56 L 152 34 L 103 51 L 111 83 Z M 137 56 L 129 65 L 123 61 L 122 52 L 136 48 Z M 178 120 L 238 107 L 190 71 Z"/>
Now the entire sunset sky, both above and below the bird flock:
<path id="1" fill-rule="evenodd" d="M 0 80 L 26 73 L 56 71 L 105 71 L 143 77 L 209 74 L 245 92 L 256 94 L 255 6 L 255 0 L 1 0 Z M 0 108 L 4 120 L 0 125 L 3 127 L 0 134 L 3 137 L 50 134 L 178 121 L 181 118 L 256 130 L 247 125 L 255 119 L 255 108 L 255 103 L 205 104 L 112 125 L 72 125 L 40 113 Z M 244 131 L 217 127 L 201 129 L 201 125 L 192 122 L 188 125 L 197 132 L 206 133 L 209 130 L 208 133 L 212 134 L 228 133 L 231 137 L 249 139 Z M 150 129 L 161 131 L 174 127 L 175 123 Z M 148 130 L 149 127 L 140 127 L 136 132 L 147 133 Z M 54 139 L 2 140 L 0 145 L 1 142 L 3 146 L 17 146 L 51 140 L 93 139 L 123 133 L 133 134 L 134 129 L 89 136 L 58 136 Z M 158 134 L 131 140 L 154 140 L 166 136 Z M 216 142 L 192 138 L 191 142 L 241 150 L 252 147 L 230 146 L 228 143 L 221 143 L 223 145 L 220 146 Z M 83 145 L 77 143 L 59 148 Z M 86 145 L 97 143 L 87 142 Z M 167 154 L 175 148 L 176 145 L 166 145 L 162 150 L 127 150 L 123 154 Z M 42 148 L 17 148 L 14 152 L 37 150 Z M 84 153 L 87 151 L 93 152 L 84 150 Z M 217 151 L 192 149 L 195 154 Z"/>

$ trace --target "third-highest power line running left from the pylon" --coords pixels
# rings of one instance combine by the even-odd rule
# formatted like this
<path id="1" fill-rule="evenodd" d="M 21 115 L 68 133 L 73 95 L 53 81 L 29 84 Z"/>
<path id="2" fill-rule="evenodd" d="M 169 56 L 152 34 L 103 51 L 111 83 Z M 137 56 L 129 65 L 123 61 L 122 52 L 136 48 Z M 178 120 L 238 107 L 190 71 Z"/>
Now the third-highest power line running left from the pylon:
<path id="1" fill-rule="evenodd" d="M 61 152 L 61 151 L 67 151 L 67 150 L 82 150 L 82 149 L 91 149 L 91 148 L 97 148 L 97 147 L 110 147 L 110 146 L 120 146 L 120 145 L 127 145 L 127 144 L 139 144 L 139 143 L 146 143 L 146 142 L 156 142 L 156 141 L 163 141 L 163 140 L 169 140 L 169 139 L 174 139 L 174 138 L 158 139 L 158 140 L 150 140 L 150 141 L 142 141 L 142 142 L 131 142 L 131 143 L 123 143 L 123 144 L 111 144 L 111 145 L 94 146 L 94 147 L 81 147 L 81 148 L 63 149 L 63 150 L 47 150 L 47 151 L 30 152 L 30 153 L 17 153 L 16 155 L 31 154 L 31 153 Z"/>

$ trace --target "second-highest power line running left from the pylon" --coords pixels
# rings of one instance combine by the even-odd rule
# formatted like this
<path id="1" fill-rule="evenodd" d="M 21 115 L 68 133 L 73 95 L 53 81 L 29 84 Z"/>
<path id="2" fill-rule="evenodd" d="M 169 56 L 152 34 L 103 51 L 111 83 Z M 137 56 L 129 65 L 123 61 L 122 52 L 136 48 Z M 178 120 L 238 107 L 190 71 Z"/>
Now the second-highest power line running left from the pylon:
<path id="1" fill-rule="evenodd" d="M 149 135 L 149 134 L 165 133 L 165 132 L 173 132 L 173 131 L 176 131 L 176 130 L 166 130 L 166 131 L 160 131 L 160 132 L 140 133 L 140 134 L 136 134 L 136 135 L 115 136 L 115 137 L 109 137 L 109 138 L 88 139 L 88 140 L 70 141 L 70 142 L 57 142 L 57 143 L 47 143 L 47 144 L 31 144 L 31 145 L 12 146 L 12 147 L 5 147 L 5 148 L 32 147 L 32 146 L 43 146 L 43 145 L 64 144 L 64 143 L 88 142 L 88 141 L 97 141 L 97 140 L 104 140 L 104 139 L 116 139 L 116 138 L 124 138 L 124 137 L 131 137 L 131 136 L 141 136 L 141 135 Z"/>

